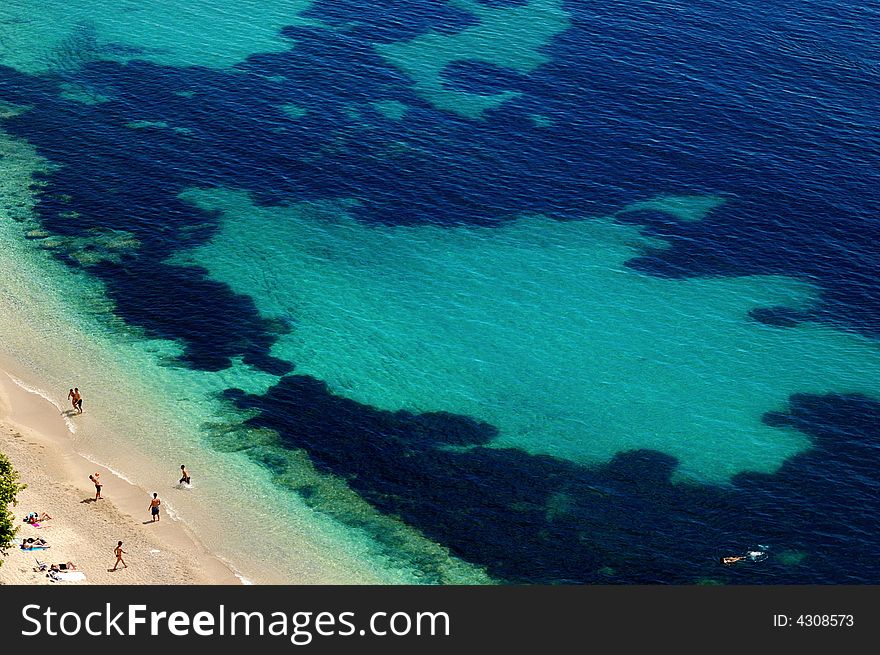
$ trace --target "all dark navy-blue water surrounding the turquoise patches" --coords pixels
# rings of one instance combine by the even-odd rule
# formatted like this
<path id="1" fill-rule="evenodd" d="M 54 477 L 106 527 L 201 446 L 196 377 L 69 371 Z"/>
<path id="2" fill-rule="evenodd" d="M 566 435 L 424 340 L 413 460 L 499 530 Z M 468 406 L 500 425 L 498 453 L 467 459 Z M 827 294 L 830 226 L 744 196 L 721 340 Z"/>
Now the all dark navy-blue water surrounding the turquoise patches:
<path id="1" fill-rule="evenodd" d="M 356 198 L 367 224 L 441 226 L 499 225 L 523 212 L 602 215 L 646 193 L 722 194 L 736 202 L 700 222 L 631 216 L 672 247 L 629 265 L 658 276 L 807 279 L 821 288 L 818 310 L 756 318 L 820 320 L 880 338 L 877 8 L 567 2 L 572 25 L 532 73 L 474 61 L 444 71 L 449 88 L 521 92 L 474 121 L 434 108 L 373 49 L 428 30 L 455 33 L 473 17 L 437 1 L 392 4 L 393 12 L 389 3 L 319 0 L 310 16 L 357 25 L 289 28 L 295 48 L 254 55 L 236 73 L 138 61 L 41 77 L 0 67 L 0 99 L 33 106 L 4 129 L 62 164 L 40 193 L 42 224 L 57 234 L 133 233 L 135 255 L 89 268 L 120 316 L 180 340 L 188 366 L 220 370 L 242 356 L 285 375 L 265 397 L 229 397 L 258 409 L 252 424 L 306 448 L 379 510 L 501 579 L 880 582 L 874 400 L 792 398 L 789 413 L 765 420 L 797 427 L 814 448 L 776 475 L 741 475 L 726 489 L 671 484 L 674 461 L 651 451 L 621 453 L 598 469 L 516 450 L 459 452 L 443 447 L 449 434 L 485 444 L 493 427 L 333 396 L 270 356 L 279 332 L 295 326 L 267 321 L 249 298 L 163 261 L 216 226 L 217 216 L 176 198 L 196 185 L 244 188 L 271 205 Z M 67 100 L 64 83 L 111 100 Z M 405 120 L 370 104 L 388 99 L 409 107 Z M 284 103 L 308 112 L 294 121 Z M 552 124 L 536 128 L 533 114 Z M 189 131 L 133 130 L 132 120 Z M 400 141 L 411 147 L 387 156 Z M 75 224 L 63 215 L 71 209 Z M 382 435 L 382 447 L 371 439 L 366 449 L 366 433 Z M 565 499 L 561 518 L 547 516 L 553 497 Z M 755 542 L 809 552 L 810 565 L 719 570 L 707 558 Z"/>

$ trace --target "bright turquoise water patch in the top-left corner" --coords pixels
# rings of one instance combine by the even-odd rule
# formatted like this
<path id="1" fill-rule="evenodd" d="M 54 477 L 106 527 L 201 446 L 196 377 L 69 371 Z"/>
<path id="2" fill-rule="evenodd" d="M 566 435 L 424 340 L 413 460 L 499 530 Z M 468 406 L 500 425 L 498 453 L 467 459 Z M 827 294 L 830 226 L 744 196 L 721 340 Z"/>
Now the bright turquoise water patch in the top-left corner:
<path id="1" fill-rule="evenodd" d="M 90 61 L 145 59 L 228 68 L 255 52 L 289 47 L 282 27 L 297 24 L 308 0 L 195 2 L 82 0 L 4 3 L 5 66 L 45 74 Z"/>

